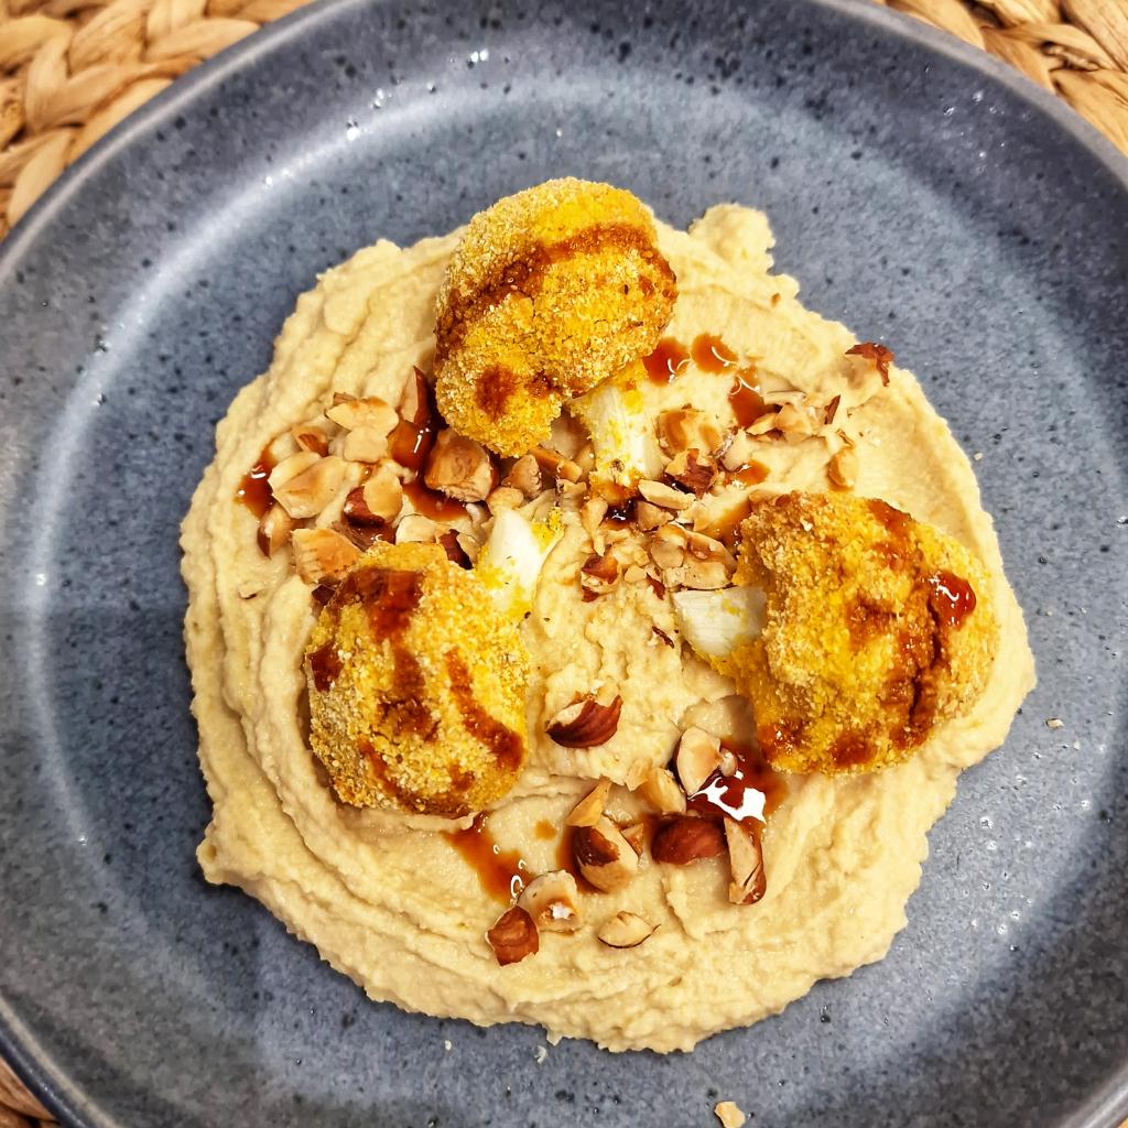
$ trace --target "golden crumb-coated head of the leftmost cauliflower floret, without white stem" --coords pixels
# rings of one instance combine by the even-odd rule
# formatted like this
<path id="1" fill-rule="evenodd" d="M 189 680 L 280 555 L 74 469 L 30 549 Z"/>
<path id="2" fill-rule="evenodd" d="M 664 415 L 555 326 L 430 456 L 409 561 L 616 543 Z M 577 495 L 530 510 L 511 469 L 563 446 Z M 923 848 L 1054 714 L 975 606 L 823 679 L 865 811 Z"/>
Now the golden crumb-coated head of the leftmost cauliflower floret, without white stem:
<path id="1" fill-rule="evenodd" d="M 310 740 L 337 795 L 450 818 L 517 782 L 529 660 L 517 626 L 439 545 L 378 543 L 306 647 Z"/>

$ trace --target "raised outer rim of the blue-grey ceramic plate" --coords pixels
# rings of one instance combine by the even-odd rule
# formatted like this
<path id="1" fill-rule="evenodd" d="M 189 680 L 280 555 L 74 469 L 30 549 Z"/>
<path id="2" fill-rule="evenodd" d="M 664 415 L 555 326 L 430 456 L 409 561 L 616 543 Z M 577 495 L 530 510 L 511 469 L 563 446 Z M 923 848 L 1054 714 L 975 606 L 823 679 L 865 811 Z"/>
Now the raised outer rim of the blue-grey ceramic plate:
<path id="1" fill-rule="evenodd" d="M 200 63 L 150 98 L 68 166 L 0 241 L 0 288 L 9 284 L 24 256 L 34 248 L 37 236 L 76 199 L 85 184 L 120 153 L 127 151 L 148 130 L 156 129 L 161 123 L 170 123 L 183 106 L 201 94 L 240 69 L 254 64 L 292 37 L 334 18 L 338 10 L 378 8 L 385 2 L 386 0 L 312 0 Z M 681 0 L 684 6 L 688 2 L 689 0 Z M 1128 201 L 1128 156 L 1121 153 L 1061 97 L 1042 89 L 1008 63 L 874 0 L 802 0 L 802 3 L 841 14 L 899 39 L 922 44 L 928 51 L 978 72 L 988 81 L 999 83 L 1019 102 L 1048 117 L 1057 129 L 1087 150 L 1119 184 Z M 45 1055 L 35 1054 L 35 1045 L 34 1033 L 11 1013 L 7 999 L 0 995 L 0 1055 L 30 1093 L 61 1125 L 74 1128 L 123 1128 L 121 1121 L 107 1118 L 92 1107 L 82 1090 L 55 1063 L 49 1066 L 50 1059 Z M 1126 1117 L 1128 1059 L 1116 1067 L 1077 1109 L 1059 1121 L 1058 1128 L 1116 1128 Z"/>

